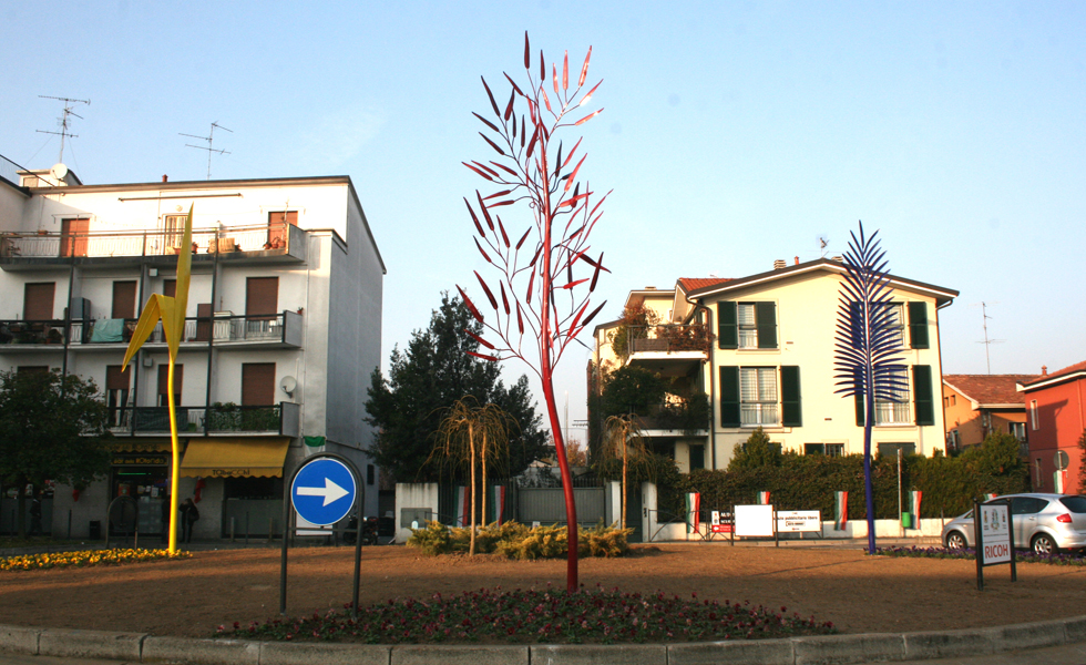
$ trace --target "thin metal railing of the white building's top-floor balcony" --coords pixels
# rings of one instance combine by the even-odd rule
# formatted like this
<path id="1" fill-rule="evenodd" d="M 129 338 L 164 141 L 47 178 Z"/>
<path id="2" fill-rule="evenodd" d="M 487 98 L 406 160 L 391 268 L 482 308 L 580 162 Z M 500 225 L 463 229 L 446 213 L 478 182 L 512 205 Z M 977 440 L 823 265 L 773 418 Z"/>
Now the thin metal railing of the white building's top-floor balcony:
<path id="1" fill-rule="evenodd" d="M 194 228 L 196 254 L 235 252 L 290 253 L 291 236 L 300 233 L 289 224 L 258 224 L 225 228 Z M 0 258 L 133 257 L 181 254 L 178 231 L 91 231 L 84 233 L 3 233 Z"/>

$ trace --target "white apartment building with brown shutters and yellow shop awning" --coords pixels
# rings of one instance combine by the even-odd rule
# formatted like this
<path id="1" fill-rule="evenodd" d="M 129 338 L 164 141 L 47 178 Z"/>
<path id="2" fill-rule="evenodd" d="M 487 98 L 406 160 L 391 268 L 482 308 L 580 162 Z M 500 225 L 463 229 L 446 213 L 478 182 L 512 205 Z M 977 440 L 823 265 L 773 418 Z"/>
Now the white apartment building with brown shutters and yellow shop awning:
<path id="1" fill-rule="evenodd" d="M 284 478 L 320 451 L 351 459 L 377 514 L 366 388 L 380 364 L 385 263 L 348 176 L 85 185 L 0 158 L 0 369 L 93 379 L 110 407 L 107 478 L 58 488 L 53 533 L 104 529 L 117 497 L 163 532 L 171 464 L 160 328 L 121 362 L 151 294 L 176 286 L 193 206 L 192 284 L 174 393 L 181 498 L 196 539 L 280 533 Z M 70 520 L 70 522 L 69 522 Z M 273 521 L 275 524 L 273 525 Z M 153 541 L 152 541 L 153 542 Z"/>

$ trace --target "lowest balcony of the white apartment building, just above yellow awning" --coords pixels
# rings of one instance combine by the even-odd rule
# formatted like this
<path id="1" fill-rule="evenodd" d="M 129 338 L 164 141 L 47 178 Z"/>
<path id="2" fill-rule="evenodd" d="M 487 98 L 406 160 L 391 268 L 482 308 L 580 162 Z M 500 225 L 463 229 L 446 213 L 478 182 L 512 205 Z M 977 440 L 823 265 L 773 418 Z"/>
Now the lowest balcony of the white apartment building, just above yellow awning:
<path id="1" fill-rule="evenodd" d="M 216 402 L 208 407 L 176 407 L 180 436 L 279 434 L 297 437 L 301 405 L 279 402 L 267 407 L 240 407 Z M 114 436 L 170 436 L 167 407 L 123 407 L 110 412 Z"/>

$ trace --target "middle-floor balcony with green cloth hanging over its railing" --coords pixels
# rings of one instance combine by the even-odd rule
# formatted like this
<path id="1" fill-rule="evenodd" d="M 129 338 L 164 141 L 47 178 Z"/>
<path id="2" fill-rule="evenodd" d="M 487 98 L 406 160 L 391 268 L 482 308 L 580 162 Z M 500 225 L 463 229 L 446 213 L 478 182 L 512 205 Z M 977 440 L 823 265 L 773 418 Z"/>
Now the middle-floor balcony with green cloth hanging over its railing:
<path id="1" fill-rule="evenodd" d="M 132 339 L 137 319 L 92 319 L 72 323 L 72 345 L 82 348 L 115 348 L 126 345 Z M 60 321 L 63 326 L 63 321 Z M 214 337 L 216 347 L 263 347 L 263 348 L 300 348 L 301 347 L 301 315 L 296 311 L 283 311 L 275 315 L 234 316 L 217 313 L 213 319 L 189 317 L 185 319 L 182 332 L 182 347 L 207 346 Z M 166 336 L 160 321 L 145 348 L 166 346 Z"/>

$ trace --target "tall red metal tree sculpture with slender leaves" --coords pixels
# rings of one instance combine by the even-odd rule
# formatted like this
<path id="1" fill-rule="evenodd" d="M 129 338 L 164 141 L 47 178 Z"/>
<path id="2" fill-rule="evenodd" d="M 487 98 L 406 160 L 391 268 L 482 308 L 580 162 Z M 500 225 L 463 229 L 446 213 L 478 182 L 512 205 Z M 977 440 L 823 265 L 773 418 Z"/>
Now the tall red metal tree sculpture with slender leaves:
<path id="1" fill-rule="evenodd" d="M 568 53 L 563 58 L 561 71 L 556 64 L 551 65 L 551 80 L 547 81 L 541 51 L 536 78 L 525 32 L 526 82 L 518 85 L 505 74 L 511 90 L 504 112 L 483 79 L 494 117 L 491 121 L 478 113 L 473 115 L 489 130 L 480 135 L 496 156 L 463 164 L 498 191 L 484 196 L 477 190 L 474 206 L 468 198 L 464 203 L 478 232 L 475 247 L 501 274 L 498 289 L 492 289 L 475 272 L 479 286 L 494 310 L 493 318 L 483 317 L 464 289 L 457 287 L 472 316 L 493 334 L 491 339 L 496 338 L 491 342 L 469 330 L 479 344 L 490 349 L 489 354 L 472 355 L 491 361 L 519 358 L 539 375 L 543 383 L 543 399 L 564 480 L 570 545 L 566 584 L 570 591 L 577 590 L 577 514 L 552 372 L 570 342 L 606 305 L 605 301 L 588 311 L 590 296 L 596 288 L 600 272 L 606 270 L 603 253 L 595 258 L 588 255 L 588 235 L 603 215 L 601 208 L 607 195 L 594 198 L 587 182 L 582 186 L 577 181 L 587 156 L 583 153 L 578 156 L 581 139 L 565 155 L 561 141 L 557 141 L 556 151 L 554 145 L 563 130 L 582 125 L 603 111 L 578 113 L 600 88 L 596 83 L 588 92 L 583 92 L 591 57 L 590 47 L 581 75 L 571 89 Z M 553 89 L 553 98 L 547 94 L 547 86 Z M 526 106 L 526 114 L 523 106 Z M 492 211 L 521 202 L 527 203 L 534 224 L 527 224 L 523 233 L 518 229 L 511 241 L 502 218 Z"/>

